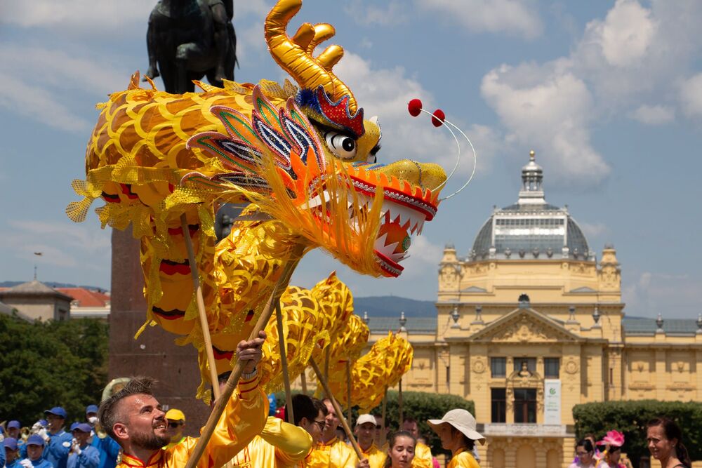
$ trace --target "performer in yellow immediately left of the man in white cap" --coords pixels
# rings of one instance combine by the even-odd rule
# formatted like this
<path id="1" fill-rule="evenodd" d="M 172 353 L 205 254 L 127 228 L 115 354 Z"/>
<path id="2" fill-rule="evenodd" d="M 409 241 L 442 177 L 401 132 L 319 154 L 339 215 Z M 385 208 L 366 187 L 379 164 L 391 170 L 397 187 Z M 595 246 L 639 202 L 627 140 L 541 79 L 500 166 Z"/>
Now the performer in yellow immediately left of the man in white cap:
<path id="1" fill-rule="evenodd" d="M 353 449 L 340 441 L 336 436 L 339 418 L 329 399 L 324 400 L 326 410 L 326 426 L 322 432 L 322 440 L 307 457 L 307 468 L 369 468 L 368 460 L 358 460 Z"/>

